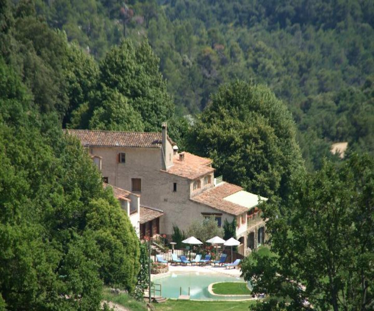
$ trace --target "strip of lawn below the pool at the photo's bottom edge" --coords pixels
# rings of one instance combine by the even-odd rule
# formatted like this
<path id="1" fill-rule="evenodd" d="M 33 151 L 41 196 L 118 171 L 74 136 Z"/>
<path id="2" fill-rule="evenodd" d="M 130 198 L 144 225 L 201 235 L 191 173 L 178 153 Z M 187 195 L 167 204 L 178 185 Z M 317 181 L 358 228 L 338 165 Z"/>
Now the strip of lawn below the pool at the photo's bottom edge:
<path id="1" fill-rule="evenodd" d="M 250 306 L 254 306 L 254 301 L 191 301 L 191 300 L 168 300 L 162 304 L 154 304 L 156 310 L 159 311 L 239 311 L 247 310 Z"/>

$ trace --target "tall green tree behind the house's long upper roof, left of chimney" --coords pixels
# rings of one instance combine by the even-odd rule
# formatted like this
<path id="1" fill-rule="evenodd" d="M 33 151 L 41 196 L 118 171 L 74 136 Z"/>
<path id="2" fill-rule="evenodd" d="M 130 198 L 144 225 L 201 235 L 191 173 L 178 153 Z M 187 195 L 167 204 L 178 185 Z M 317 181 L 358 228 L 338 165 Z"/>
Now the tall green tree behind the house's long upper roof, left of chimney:
<path id="1" fill-rule="evenodd" d="M 129 113 L 131 110 L 128 106 L 131 106 L 141 115 L 145 131 L 158 131 L 160 124 L 174 113 L 174 104 L 166 91 L 166 83 L 159 72 L 158 64 L 159 59 L 146 41 L 135 47 L 130 40 L 124 40 L 119 46 L 114 46 L 100 63 L 99 83 L 96 87 L 98 94 L 95 94 L 90 102 L 88 123 L 91 118 L 97 119 L 97 109 L 108 110 L 108 107 L 102 107 L 100 93 L 113 91 L 124 98 L 116 108 L 117 111 L 123 109 Z M 99 115 L 102 113 L 103 111 L 96 112 Z M 137 114 L 132 118 L 137 118 Z M 128 127 L 126 119 L 121 120 L 117 115 L 118 113 L 107 114 L 104 121 L 107 124 L 117 124 L 118 127 Z M 108 119 L 109 117 L 113 119 Z M 96 123 L 93 121 L 93 124 Z M 136 128 L 132 130 L 139 128 L 140 124 L 136 124 Z"/>

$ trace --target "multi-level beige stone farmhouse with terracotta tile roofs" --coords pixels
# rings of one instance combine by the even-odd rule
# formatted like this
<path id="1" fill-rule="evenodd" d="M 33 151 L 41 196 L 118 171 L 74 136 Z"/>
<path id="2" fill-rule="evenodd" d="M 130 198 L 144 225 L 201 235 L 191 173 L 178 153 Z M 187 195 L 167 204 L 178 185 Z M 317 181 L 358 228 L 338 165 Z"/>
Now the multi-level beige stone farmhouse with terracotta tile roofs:
<path id="1" fill-rule="evenodd" d="M 178 147 L 162 133 L 67 130 L 91 154 L 105 187 L 114 195 L 140 237 L 166 234 L 173 225 L 186 231 L 196 218 L 214 215 L 218 226 L 237 221 L 243 255 L 264 243 L 265 224 L 258 196 L 214 178 L 212 161 Z M 127 189 L 127 190 L 124 190 Z M 261 200 L 267 200 L 260 197 Z"/>

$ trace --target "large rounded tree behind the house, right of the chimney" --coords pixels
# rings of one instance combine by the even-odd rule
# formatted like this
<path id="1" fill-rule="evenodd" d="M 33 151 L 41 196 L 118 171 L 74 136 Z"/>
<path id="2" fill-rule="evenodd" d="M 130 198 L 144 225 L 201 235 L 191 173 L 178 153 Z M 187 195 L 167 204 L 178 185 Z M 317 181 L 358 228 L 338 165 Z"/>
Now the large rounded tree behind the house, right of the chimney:
<path id="1" fill-rule="evenodd" d="M 211 158 L 217 175 L 264 196 L 286 198 L 290 177 L 303 171 L 291 114 L 263 85 L 220 87 L 197 118 L 189 148 Z"/>

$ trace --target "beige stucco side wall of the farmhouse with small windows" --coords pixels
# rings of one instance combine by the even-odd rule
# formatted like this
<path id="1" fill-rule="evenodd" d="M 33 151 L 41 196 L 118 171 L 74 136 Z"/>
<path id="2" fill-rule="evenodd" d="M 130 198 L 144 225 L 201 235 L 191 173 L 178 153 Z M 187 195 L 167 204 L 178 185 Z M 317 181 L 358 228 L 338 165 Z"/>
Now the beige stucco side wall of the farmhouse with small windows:
<path id="1" fill-rule="evenodd" d="M 171 152 L 172 157 L 169 142 L 166 150 Z M 199 219 L 203 212 L 220 213 L 216 209 L 190 200 L 193 181 L 161 171 L 163 159 L 159 148 L 91 147 L 90 152 L 102 157 L 102 175 L 108 177 L 109 184 L 132 191 L 131 178 L 141 178 L 141 192 L 137 192 L 141 204 L 161 209 L 165 213 L 160 218 L 162 234 L 172 234 L 173 224 L 187 231 L 191 222 Z M 117 154 L 120 152 L 126 153 L 125 163 L 117 162 Z M 169 160 L 168 156 L 166 158 Z M 201 188 L 193 191 L 193 195 L 212 187 L 213 180 L 214 175 L 211 174 L 211 183 L 204 186 L 204 178 L 200 178 Z M 177 183 L 176 192 L 174 183 Z M 231 222 L 233 217 L 223 213 L 222 225 L 225 219 Z M 135 217 L 132 221 L 136 221 Z"/>

